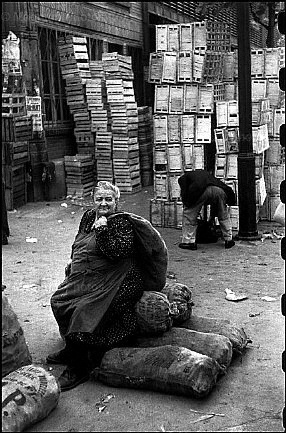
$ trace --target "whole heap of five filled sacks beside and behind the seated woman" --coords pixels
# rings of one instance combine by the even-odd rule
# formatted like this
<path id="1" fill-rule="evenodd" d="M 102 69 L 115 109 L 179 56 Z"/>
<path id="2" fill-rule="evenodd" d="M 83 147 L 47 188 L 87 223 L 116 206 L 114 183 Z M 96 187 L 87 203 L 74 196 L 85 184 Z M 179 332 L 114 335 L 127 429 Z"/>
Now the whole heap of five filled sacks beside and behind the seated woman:
<path id="1" fill-rule="evenodd" d="M 133 347 L 105 353 L 92 378 L 107 385 L 203 398 L 250 340 L 228 320 L 192 314 L 192 291 L 167 280 L 136 304 L 140 335 Z"/>

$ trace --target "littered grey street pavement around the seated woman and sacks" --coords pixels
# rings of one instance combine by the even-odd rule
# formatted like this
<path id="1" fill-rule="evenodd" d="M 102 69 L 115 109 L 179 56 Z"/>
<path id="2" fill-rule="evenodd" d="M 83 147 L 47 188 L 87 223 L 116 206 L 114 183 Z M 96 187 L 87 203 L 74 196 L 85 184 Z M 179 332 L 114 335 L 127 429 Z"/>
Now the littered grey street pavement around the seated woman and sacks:
<path id="1" fill-rule="evenodd" d="M 123 195 L 121 207 L 149 219 L 152 187 Z M 45 368 L 48 353 L 62 347 L 50 297 L 64 279 L 64 267 L 83 211 L 90 202 L 70 199 L 28 203 L 8 212 L 11 236 L 2 247 L 2 283 L 29 345 L 33 362 Z M 62 206 L 64 205 L 64 206 Z M 169 250 L 168 272 L 192 288 L 193 313 L 227 318 L 242 326 L 251 338 L 245 354 L 235 359 L 208 398 L 197 400 L 135 389 L 113 388 L 87 382 L 63 393 L 57 408 L 30 432 L 55 431 L 284 431 L 284 261 L 276 234 L 284 229 L 259 222 L 264 241 L 237 241 L 224 249 L 199 245 L 197 251 L 178 248 L 181 232 L 159 228 Z M 273 234 L 274 230 L 274 234 Z M 37 238 L 36 243 L 26 237 Z M 279 236 L 278 236 L 279 237 Z M 230 302 L 225 289 L 246 294 L 248 299 Z M 264 296 L 273 298 L 265 301 Z M 62 367 L 55 366 L 58 376 Z M 96 403 L 114 394 L 103 412 Z M 198 411 L 198 412 L 196 412 Z M 209 418 L 204 414 L 215 413 Z M 223 416 L 222 416 L 223 415 Z"/>

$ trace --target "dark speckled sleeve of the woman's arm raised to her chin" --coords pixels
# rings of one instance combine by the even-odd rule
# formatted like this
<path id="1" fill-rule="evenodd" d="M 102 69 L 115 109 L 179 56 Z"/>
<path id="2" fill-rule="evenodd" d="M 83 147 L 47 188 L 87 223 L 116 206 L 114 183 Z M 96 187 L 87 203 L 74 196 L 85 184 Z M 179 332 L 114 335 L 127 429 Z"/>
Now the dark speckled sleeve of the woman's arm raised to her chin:
<path id="1" fill-rule="evenodd" d="M 110 259 L 130 257 L 134 253 L 133 228 L 127 219 L 115 217 L 95 233 L 98 248 Z"/>

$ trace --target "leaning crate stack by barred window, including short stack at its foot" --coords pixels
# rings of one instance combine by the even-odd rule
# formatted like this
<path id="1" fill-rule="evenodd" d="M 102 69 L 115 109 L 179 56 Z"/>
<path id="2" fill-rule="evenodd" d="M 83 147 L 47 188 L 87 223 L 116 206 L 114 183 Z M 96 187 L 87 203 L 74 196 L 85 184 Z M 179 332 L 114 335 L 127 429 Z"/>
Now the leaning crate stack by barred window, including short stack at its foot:
<path id="1" fill-rule="evenodd" d="M 88 91 L 92 87 L 87 41 L 85 37 L 66 35 L 59 39 L 58 49 L 78 150 L 77 155 L 65 157 L 67 195 L 86 196 L 94 186 L 95 153 L 94 133 L 91 130 L 91 115 L 86 97 L 86 87 Z"/>

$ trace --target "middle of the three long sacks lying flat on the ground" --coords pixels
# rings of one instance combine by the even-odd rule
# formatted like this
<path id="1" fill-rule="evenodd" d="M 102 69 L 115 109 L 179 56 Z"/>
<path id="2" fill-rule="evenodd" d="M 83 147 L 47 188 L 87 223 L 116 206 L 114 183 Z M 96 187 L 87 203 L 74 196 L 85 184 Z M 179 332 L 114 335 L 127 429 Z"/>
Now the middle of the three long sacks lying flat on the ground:
<path id="1" fill-rule="evenodd" d="M 227 368 L 232 359 L 232 344 L 224 335 L 207 334 L 184 328 L 172 328 L 158 337 L 138 337 L 136 347 L 181 346 L 202 353 Z"/>

